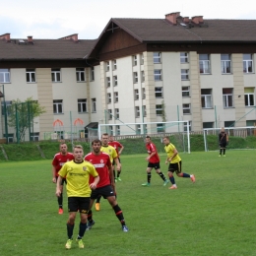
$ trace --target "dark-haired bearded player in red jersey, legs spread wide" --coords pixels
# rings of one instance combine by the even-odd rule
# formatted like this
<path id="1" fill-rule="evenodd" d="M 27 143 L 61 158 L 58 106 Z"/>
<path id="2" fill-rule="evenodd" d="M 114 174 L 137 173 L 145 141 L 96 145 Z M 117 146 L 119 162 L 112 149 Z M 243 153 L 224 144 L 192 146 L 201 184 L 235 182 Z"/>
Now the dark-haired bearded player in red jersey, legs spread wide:
<path id="1" fill-rule="evenodd" d="M 89 207 L 90 211 L 88 213 L 88 221 L 89 221 L 88 229 L 91 229 L 92 226 L 95 224 L 95 221 L 93 220 L 92 207 L 98 195 L 101 195 L 107 199 L 108 203 L 113 208 L 116 217 L 118 218 L 118 220 L 122 225 L 122 230 L 124 232 L 127 232 L 128 227 L 125 224 L 122 210 L 118 206 L 116 198 L 114 196 L 115 184 L 113 179 L 113 169 L 112 169 L 112 163 L 111 163 L 110 157 L 108 154 L 104 152 L 100 152 L 100 148 L 101 148 L 100 140 L 98 139 L 94 140 L 92 142 L 92 148 L 93 148 L 93 152 L 88 154 L 85 157 L 85 160 L 88 160 L 94 164 L 94 166 L 96 167 L 96 172 L 98 173 L 98 176 L 99 176 L 99 181 L 96 185 L 96 189 L 93 190 L 91 194 L 91 202 Z M 90 183 L 94 180 L 93 177 L 91 178 L 92 180 L 90 180 Z"/>

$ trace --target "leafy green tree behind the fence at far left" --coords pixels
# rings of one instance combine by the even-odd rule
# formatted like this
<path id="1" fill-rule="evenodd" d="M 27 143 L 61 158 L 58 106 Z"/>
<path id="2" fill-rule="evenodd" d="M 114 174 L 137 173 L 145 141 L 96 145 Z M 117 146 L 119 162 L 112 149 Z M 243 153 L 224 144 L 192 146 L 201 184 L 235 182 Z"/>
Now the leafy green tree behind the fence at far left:
<path id="1" fill-rule="evenodd" d="M 17 142 L 20 142 L 25 140 L 26 131 L 32 128 L 33 119 L 46 111 L 37 100 L 28 97 L 24 102 L 19 98 L 12 100 L 12 104 L 8 106 L 7 112 L 8 125 L 15 128 Z M 29 136 L 31 137 L 31 134 Z"/>

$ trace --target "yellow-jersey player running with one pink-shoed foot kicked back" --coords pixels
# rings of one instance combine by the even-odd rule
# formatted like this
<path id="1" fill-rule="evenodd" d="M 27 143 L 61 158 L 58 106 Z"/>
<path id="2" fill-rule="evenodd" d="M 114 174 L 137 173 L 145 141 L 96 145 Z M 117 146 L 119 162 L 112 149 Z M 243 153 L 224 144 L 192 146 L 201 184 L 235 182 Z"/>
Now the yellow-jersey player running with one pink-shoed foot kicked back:
<path id="1" fill-rule="evenodd" d="M 194 174 L 187 174 L 181 171 L 181 159 L 178 156 L 178 152 L 173 144 L 169 142 L 168 137 L 163 138 L 163 144 L 165 145 L 164 150 L 167 154 L 165 164 L 169 162 L 168 166 L 168 176 L 172 186 L 169 189 L 176 189 L 177 185 L 173 177 L 173 172 L 176 172 L 178 177 L 191 178 L 192 182 L 195 183 L 196 178 Z"/>

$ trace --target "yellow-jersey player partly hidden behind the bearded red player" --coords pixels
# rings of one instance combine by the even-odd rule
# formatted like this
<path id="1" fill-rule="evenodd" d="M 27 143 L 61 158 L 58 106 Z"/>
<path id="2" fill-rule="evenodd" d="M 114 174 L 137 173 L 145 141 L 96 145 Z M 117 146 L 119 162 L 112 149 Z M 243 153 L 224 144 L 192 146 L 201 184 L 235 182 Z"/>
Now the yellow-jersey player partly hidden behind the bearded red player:
<path id="1" fill-rule="evenodd" d="M 117 171 L 119 171 L 120 170 L 120 162 L 118 160 L 118 155 L 116 153 L 115 148 L 110 146 L 110 145 L 108 145 L 108 134 L 107 133 L 103 133 L 101 135 L 101 148 L 100 148 L 100 151 L 106 153 L 110 157 L 111 162 L 115 161 L 116 169 L 117 169 Z M 112 165 L 112 168 L 114 168 L 113 165 Z M 115 192 L 115 195 L 116 195 L 116 192 Z M 96 211 L 97 212 L 100 210 L 100 204 L 99 204 L 100 198 L 101 198 L 101 196 L 98 196 L 96 198 Z"/>

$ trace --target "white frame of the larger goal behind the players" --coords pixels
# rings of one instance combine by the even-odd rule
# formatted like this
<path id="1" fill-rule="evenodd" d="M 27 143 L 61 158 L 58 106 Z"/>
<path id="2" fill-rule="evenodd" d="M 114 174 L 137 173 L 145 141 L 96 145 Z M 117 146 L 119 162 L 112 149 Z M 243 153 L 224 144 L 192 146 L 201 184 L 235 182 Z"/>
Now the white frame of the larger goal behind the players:
<path id="1" fill-rule="evenodd" d="M 98 124 L 98 130 L 97 130 L 97 135 L 98 138 L 101 138 L 101 128 L 102 127 L 109 127 L 109 126 L 130 126 L 130 125 L 151 125 L 151 124 L 175 124 L 175 123 L 180 123 L 183 125 L 186 125 L 186 132 L 180 132 L 183 134 L 187 135 L 187 152 L 188 154 L 190 154 L 190 131 L 189 131 L 189 121 L 168 121 L 168 122 L 144 122 L 144 123 L 108 123 L 108 124 Z M 183 127 L 182 127 L 183 130 Z M 167 133 L 167 132 L 166 132 Z M 162 132 L 162 134 L 164 134 L 164 132 Z M 143 134 L 141 134 L 143 135 Z M 150 134 L 149 134 L 150 135 Z M 119 135 L 118 135 L 119 136 Z M 125 136 L 125 135 L 120 135 L 120 136 Z"/>

